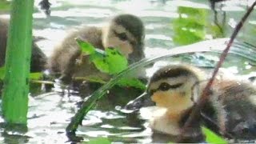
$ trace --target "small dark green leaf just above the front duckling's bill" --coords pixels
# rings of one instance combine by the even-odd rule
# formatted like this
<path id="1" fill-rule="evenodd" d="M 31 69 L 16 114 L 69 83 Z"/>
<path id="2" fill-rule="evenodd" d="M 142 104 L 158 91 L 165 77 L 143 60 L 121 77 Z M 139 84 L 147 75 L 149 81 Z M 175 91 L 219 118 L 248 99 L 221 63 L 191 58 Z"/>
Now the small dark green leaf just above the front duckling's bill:
<path id="1" fill-rule="evenodd" d="M 118 86 L 132 86 L 138 89 L 146 90 L 146 85 L 137 78 L 122 78 L 118 81 Z"/>

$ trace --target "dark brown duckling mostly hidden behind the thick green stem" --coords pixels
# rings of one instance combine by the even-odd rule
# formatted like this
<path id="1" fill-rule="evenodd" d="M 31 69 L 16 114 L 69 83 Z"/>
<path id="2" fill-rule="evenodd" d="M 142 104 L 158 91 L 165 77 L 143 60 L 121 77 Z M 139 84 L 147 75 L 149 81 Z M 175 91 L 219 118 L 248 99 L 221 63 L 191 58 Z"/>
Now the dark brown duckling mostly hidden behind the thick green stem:
<path id="1" fill-rule="evenodd" d="M 6 58 L 6 45 L 7 45 L 7 33 L 8 33 L 9 21 L 7 19 L 0 18 L 0 67 L 4 66 Z M 45 70 L 46 55 L 35 44 L 35 39 L 32 42 L 32 56 L 30 63 L 31 72 L 41 72 Z"/>

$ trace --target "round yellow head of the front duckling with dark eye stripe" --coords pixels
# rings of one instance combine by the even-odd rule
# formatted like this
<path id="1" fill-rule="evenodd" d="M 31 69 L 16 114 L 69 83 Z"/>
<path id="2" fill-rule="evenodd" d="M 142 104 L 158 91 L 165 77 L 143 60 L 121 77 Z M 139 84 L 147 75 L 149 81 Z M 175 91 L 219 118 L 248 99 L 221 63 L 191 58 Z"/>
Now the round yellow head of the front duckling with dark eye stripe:
<path id="1" fill-rule="evenodd" d="M 148 93 L 156 106 L 175 112 L 187 110 L 198 100 L 199 79 L 189 66 L 166 66 L 152 76 Z"/>

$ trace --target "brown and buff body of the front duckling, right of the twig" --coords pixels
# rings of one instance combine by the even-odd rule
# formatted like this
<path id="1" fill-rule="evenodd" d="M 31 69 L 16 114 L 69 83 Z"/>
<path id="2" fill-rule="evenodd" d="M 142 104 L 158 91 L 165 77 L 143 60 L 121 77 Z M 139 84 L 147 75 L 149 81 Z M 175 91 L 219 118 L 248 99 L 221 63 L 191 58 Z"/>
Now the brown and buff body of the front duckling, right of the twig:
<path id="1" fill-rule="evenodd" d="M 256 139 L 256 90 L 246 82 L 215 82 L 209 104 L 211 112 L 202 109 L 234 139 Z M 209 109 L 208 109 L 209 110 Z"/>

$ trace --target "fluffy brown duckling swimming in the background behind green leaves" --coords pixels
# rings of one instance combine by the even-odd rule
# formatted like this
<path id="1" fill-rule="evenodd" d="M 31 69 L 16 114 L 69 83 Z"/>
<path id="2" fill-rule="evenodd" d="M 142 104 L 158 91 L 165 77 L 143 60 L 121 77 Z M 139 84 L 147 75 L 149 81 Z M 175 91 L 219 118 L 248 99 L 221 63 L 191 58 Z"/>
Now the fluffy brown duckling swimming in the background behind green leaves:
<path id="1" fill-rule="evenodd" d="M 114 17 L 105 27 L 82 27 L 64 38 L 63 42 L 54 49 L 50 56 L 49 68 L 52 74 L 61 75 L 62 82 L 70 83 L 72 77 L 82 77 L 98 73 L 90 64 L 88 55 L 81 56 L 75 38 L 90 42 L 94 47 L 104 50 L 108 47 L 117 48 L 128 58 L 129 63 L 138 62 L 144 58 L 144 26 L 142 21 L 132 14 L 120 14 Z M 104 74 L 99 77 L 109 78 Z"/>

